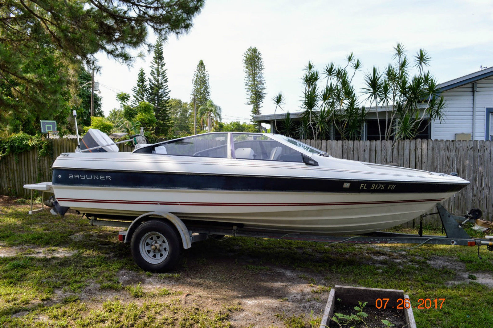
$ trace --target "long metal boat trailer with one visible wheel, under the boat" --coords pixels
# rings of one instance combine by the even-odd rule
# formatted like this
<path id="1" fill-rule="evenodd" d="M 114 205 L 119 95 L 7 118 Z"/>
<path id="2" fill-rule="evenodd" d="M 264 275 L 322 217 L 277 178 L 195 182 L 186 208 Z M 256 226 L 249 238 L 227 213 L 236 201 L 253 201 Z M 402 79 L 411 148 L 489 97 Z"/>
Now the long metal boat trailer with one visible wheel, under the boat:
<path id="1" fill-rule="evenodd" d="M 40 209 L 33 209 L 32 191 L 41 191 L 44 200 L 45 192 L 53 192 L 51 182 L 26 184 L 24 187 L 31 189 L 31 210 L 29 211 L 29 214 L 36 214 L 43 211 L 43 205 L 41 205 Z M 480 210 L 473 209 L 466 215 L 457 216 L 450 214 L 440 203 L 436 204 L 436 208 L 438 212 L 422 215 L 419 233 L 417 235 L 377 231 L 355 236 L 326 236 L 253 230 L 243 228 L 243 226 L 239 224 L 235 225 L 234 223 L 230 223 L 228 226 L 216 227 L 202 225 L 204 223 L 201 222 L 187 222 L 187 224 L 185 224 L 181 219 L 176 217 L 176 215 L 162 212 L 145 213 L 133 221 L 118 218 L 98 219 L 90 215 L 88 216 L 88 219 L 92 225 L 127 228 L 126 231 L 119 232 L 118 239 L 127 244 L 131 244 L 134 260 L 142 269 L 149 271 L 163 271 L 173 268 L 178 262 L 181 249 L 188 249 L 194 242 L 206 240 L 208 238 L 216 238 L 216 236 L 301 240 L 328 244 L 417 244 L 417 246 L 431 244 L 477 246 L 478 256 L 480 258 L 481 246 L 487 246 L 489 251 L 493 251 L 493 235 L 485 236 L 485 238 L 472 238 L 462 227 L 466 222 L 475 223 L 476 219 L 479 219 L 482 216 Z M 57 211 L 51 213 L 56 214 Z M 445 236 L 423 235 L 423 218 L 433 214 L 439 215 Z M 156 256 L 162 256 L 163 260 L 159 260 Z"/>

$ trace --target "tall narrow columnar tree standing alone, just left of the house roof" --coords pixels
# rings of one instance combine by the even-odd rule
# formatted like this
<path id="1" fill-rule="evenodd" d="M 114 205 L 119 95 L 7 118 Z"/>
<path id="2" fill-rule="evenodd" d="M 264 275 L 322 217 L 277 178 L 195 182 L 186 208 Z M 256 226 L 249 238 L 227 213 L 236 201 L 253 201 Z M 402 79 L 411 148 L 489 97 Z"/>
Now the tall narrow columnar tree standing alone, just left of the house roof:
<path id="1" fill-rule="evenodd" d="M 265 97 L 265 79 L 264 79 L 264 61 L 262 54 L 256 47 L 249 47 L 243 54 L 243 65 L 245 72 L 245 90 L 246 90 L 246 105 L 252 106 L 251 118 L 252 122 L 258 125 L 260 131 L 260 123 L 253 121 L 253 115 L 260 114 L 260 108 Z"/>

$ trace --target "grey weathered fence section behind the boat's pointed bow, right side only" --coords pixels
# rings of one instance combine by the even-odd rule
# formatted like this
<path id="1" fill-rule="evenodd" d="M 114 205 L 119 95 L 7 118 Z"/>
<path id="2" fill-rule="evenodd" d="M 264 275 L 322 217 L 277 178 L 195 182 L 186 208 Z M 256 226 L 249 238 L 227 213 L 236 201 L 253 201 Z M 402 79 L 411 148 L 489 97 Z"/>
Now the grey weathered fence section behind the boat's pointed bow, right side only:
<path id="1" fill-rule="evenodd" d="M 395 163 L 402 167 L 447 173 L 471 183 L 443 202 L 452 213 L 467 213 L 477 207 L 483 218 L 493 219 L 493 148 L 491 141 L 399 140 L 335 141 L 302 140 L 307 145 L 328 152 L 337 158 L 377 164 Z M 435 218 L 425 219 L 441 225 Z"/>

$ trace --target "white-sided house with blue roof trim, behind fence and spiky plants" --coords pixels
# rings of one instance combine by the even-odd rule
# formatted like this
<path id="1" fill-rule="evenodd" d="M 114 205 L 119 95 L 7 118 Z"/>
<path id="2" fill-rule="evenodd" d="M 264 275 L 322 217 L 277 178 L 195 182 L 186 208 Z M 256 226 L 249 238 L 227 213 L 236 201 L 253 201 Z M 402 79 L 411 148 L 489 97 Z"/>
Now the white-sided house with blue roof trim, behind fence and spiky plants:
<path id="1" fill-rule="evenodd" d="M 432 121 L 417 138 L 493 140 L 493 67 L 441 83 L 438 88 L 446 102 L 444 119 Z M 365 122 L 364 140 L 379 139 L 374 112 L 370 109 Z M 294 120 L 302 116 L 302 112 L 290 113 Z M 256 115 L 254 120 L 270 124 L 272 129 L 274 119 L 279 121 L 285 117 L 285 113 Z"/>

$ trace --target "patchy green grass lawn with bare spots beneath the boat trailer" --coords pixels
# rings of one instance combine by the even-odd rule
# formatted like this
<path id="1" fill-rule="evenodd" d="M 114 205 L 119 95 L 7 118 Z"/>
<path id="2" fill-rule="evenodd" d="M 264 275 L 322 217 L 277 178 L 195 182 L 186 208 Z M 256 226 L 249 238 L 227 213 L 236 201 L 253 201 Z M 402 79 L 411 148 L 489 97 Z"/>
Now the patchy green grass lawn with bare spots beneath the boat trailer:
<path id="1" fill-rule="evenodd" d="M 194 244 L 176 271 L 156 274 L 134 264 L 116 228 L 27 210 L 0 202 L 0 327 L 311 328 L 335 285 L 402 289 L 412 305 L 445 298 L 414 309 L 419 328 L 493 327 L 486 248 L 479 259 L 475 247 L 232 237 Z"/>

